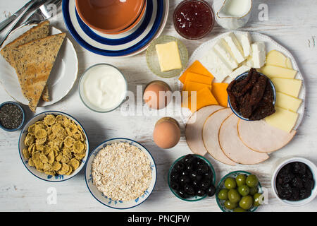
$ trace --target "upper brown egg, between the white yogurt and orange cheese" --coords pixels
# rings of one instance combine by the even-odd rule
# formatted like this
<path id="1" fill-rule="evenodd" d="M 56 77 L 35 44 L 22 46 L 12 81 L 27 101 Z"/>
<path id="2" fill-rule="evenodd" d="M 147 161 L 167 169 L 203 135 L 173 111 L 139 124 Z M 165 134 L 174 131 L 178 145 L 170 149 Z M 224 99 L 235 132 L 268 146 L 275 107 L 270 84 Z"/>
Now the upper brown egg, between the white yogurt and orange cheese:
<path id="1" fill-rule="evenodd" d="M 153 109 L 162 109 L 168 105 L 172 93 L 170 86 L 163 81 L 153 81 L 144 89 L 143 100 Z"/>

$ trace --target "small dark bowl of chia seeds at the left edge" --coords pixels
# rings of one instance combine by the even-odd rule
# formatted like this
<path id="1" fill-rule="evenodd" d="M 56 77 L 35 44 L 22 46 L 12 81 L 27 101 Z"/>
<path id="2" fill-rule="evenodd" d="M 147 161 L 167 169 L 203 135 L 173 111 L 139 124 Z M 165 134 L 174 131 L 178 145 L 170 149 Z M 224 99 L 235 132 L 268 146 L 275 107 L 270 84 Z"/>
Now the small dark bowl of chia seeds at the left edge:
<path id="1" fill-rule="evenodd" d="M 21 129 L 25 122 L 24 109 L 16 102 L 4 102 L 0 105 L 0 128 L 8 132 Z"/>

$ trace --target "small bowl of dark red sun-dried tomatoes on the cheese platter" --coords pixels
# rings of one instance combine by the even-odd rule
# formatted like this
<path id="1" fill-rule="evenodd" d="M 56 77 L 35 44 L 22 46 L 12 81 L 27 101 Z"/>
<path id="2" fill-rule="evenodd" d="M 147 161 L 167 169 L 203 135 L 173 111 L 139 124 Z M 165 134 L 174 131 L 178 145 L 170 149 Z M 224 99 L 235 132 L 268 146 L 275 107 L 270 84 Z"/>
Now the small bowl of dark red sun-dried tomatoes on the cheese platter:
<path id="1" fill-rule="evenodd" d="M 275 113 L 275 86 L 256 69 L 237 76 L 227 92 L 229 106 L 240 119 L 258 121 Z"/>

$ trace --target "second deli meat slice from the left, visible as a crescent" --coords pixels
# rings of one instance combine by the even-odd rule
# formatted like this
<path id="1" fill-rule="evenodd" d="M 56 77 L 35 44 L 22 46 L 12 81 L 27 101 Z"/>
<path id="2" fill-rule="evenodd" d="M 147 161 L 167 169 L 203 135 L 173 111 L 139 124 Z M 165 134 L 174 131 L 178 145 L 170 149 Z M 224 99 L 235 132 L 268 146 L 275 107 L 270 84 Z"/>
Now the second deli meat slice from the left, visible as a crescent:
<path id="1" fill-rule="evenodd" d="M 230 160 L 230 158 L 223 153 L 218 139 L 220 126 L 230 114 L 233 114 L 230 108 L 220 109 L 211 114 L 204 124 L 203 141 L 207 151 L 214 159 L 227 165 L 236 165 L 235 162 Z"/>

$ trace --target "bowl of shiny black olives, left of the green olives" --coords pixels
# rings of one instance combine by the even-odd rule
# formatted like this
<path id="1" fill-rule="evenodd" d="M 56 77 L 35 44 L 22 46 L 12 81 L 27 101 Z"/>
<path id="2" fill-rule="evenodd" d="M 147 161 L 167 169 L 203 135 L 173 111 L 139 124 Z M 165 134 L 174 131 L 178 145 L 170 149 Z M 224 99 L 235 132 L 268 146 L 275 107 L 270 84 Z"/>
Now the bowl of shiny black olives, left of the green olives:
<path id="1" fill-rule="evenodd" d="M 173 162 L 168 172 L 168 186 L 184 201 L 199 201 L 216 192 L 216 173 L 201 155 L 184 155 Z"/>

